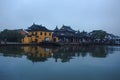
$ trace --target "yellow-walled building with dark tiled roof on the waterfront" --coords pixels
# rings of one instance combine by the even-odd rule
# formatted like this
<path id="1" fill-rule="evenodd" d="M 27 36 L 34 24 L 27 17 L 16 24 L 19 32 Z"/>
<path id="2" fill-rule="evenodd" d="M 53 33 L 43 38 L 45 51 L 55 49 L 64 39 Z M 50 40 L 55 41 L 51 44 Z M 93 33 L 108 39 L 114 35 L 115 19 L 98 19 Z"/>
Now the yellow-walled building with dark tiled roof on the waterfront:
<path id="1" fill-rule="evenodd" d="M 28 33 L 22 39 L 23 43 L 40 43 L 52 41 L 52 31 L 42 25 L 33 24 L 27 30 Z"/>

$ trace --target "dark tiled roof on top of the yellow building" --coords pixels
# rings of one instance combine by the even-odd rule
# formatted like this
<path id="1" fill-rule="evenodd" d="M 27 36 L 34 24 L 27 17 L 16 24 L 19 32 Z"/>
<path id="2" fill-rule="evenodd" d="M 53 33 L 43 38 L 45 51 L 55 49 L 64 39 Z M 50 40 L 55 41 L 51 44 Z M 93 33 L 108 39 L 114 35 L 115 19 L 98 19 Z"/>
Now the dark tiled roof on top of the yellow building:
<path id="1" fill-rule="evenodd" d="M 26 31 L 49 31 L 51 32 L 51 30 L 48 30 L 45 26 L 36 25 L 36 24 L 33 24 L 32 26 L 30 26 Z"/>

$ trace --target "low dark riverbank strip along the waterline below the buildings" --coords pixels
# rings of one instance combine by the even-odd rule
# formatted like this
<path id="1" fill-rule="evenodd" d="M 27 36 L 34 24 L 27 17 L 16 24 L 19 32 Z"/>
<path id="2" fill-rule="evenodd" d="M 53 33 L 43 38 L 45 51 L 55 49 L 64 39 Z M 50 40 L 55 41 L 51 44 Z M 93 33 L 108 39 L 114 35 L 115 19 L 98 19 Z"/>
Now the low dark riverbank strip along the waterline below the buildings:
<path id="1" fill-rule="evenodd" d="M 56 42 L 41 42 L 41 43 L 16 43 L 7 42 L 1 43 L 0 46 L 92 46 L 92 45 L 110 45 L 110 46 L 120 46 L 120 44 L 100 44 L 100 43 L 56 43 Z"/>

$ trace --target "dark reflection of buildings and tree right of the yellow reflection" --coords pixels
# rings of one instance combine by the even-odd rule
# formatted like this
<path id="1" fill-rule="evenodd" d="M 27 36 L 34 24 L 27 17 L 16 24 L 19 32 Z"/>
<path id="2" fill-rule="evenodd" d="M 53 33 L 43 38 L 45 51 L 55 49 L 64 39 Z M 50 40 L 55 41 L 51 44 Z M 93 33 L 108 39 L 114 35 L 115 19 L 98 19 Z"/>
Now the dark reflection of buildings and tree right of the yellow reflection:
<path id="1" fill-rule="evenodd" d="M 74 57 L 86 57 L 87 55 L 97 58 L 105 58 L 108 55 L 108 51 L 105 46 L 72 46 L 53 50 L 53 58 L 55 58 L 56 62 L 59 58 L 61 59 L 61 62 L 67 62 Z"/>

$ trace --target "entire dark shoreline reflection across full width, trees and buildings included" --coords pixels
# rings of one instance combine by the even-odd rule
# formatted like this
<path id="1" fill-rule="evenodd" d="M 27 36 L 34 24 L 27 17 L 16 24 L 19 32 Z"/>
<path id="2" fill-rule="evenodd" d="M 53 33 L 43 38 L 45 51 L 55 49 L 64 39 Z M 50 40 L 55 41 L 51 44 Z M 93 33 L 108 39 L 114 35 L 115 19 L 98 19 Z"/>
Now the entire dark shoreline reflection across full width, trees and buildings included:
<path id="1" fill-rule="evenodd" d="M 61 59 L 61 62 L 68 62 L 74 57 L 97 57 L 105 58 L 108 54 L 113 53 L 113 51 L 120 51 L 120 47 L 112 46 L 63 46 L 63 47 L 40 47 L 40 46 L 12 46 L 12 47 L 1 47 L 0 53 L 3 56 L 9 57 L 22 57 L 27 56 L 27 59 L 32 62 L 37 61 L 47 61 L 48 58 L 54 58 L 55 62 Z"/>

